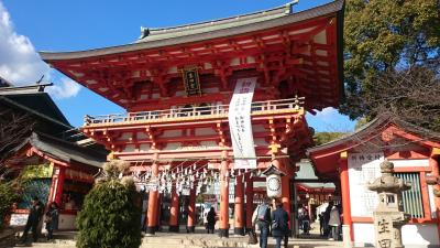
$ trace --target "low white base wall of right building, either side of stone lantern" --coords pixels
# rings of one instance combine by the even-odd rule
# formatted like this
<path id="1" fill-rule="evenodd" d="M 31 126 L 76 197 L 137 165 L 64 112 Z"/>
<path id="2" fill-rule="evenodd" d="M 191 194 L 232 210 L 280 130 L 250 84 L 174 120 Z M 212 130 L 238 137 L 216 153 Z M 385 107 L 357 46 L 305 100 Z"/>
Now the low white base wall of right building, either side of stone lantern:
<path id="1" fill-rule="evenodd" d="M 353 223 L 354 246 L 369 247 L 375 244 L 374 225 Z M 436 224 L 408 224 L 402 228 L 405 247 L 430 247 L 440 245 Z"/>

